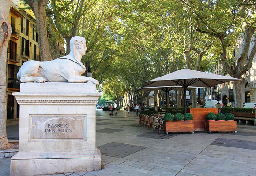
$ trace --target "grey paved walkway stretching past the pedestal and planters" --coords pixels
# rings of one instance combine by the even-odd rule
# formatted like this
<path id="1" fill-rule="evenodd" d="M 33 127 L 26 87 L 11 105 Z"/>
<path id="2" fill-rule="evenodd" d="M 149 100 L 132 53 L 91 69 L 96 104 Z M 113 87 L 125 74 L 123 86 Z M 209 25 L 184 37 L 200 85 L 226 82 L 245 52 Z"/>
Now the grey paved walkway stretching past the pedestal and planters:
<path id="1" fill-rule="evenodd" d="M 134 112 L 96 114 L 104 169 L 51 176 L 256 176 L 254 126 L 239 125 L 237 134 L 165 135 L 140 127 Z M 0 158 L 0 176 L 9 175 L 10 159 Z"/>

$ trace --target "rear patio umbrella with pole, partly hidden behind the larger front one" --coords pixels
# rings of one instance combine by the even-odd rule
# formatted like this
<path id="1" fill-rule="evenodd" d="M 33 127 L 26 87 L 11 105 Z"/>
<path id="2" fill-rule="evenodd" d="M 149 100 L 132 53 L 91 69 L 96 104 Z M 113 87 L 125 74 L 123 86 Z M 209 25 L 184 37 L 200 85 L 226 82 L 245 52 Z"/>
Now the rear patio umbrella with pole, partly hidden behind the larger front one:
<path id="1" fill-rule="evenodd" d="M 203 88 L 203 87 L 192 87 L 192 86 L 188 86 L 185 88 L 185 90 L 192 90 L 194 88 Z M 161 91 L 164 91 L 166 92 L 166 112 L 168 112 L 168 92 L 171 91 L 171 90 L 174 90 L 174 91 L 178 91 L 178 90 L 184 90 L 184 88 L 182 86 L 159 86 L 159 87 L 139 87 L 136 89 L 135 92 L 138 92 L 138 91 L 158 91 L 158 90 L 161 90 Z"/>

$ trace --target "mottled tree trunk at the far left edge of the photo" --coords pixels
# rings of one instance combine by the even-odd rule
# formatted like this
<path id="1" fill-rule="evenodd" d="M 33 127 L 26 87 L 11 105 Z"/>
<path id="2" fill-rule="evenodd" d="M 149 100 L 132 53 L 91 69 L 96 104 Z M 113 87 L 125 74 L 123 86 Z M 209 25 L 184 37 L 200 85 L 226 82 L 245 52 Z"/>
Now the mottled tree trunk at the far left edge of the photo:
<path id="1" fill-rule="evenodd" d="M 6 136 L 6 64 L 7 46 L 11 36 L 11 25 L 8 22 L 11 0 L 0 0 L 0 149 L 11 148 Z"/>

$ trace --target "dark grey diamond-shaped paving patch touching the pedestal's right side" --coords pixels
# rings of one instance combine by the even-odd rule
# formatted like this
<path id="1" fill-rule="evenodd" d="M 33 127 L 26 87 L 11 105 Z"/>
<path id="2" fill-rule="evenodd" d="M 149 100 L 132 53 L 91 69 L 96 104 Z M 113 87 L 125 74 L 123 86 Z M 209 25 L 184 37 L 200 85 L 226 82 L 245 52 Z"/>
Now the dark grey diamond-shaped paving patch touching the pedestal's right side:
<path id="1" fill-rule="evenodd" d="M 146 147 L 143 146 L 135 146 L 124 143 L 108 143 L 98 147 L 98 149 L 101 150 L 101 154 L 117 158 L 123 158 L 145 148 Z"/>

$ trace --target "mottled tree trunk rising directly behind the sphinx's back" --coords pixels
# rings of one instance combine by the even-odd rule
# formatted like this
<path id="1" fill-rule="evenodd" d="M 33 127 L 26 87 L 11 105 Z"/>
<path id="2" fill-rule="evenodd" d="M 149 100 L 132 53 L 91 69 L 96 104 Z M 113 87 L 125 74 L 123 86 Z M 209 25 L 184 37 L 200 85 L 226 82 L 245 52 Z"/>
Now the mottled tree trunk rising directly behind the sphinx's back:
<path id="1" fill-rule="evenodd" d="M 46 30 L 45 5 L 49 0 L 25 0 L 31 7 L 35 17 L 38 30 L 39 55 L 42 61 L 52 60 Z"/>

